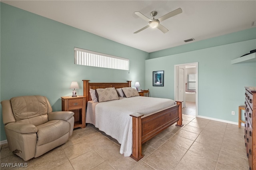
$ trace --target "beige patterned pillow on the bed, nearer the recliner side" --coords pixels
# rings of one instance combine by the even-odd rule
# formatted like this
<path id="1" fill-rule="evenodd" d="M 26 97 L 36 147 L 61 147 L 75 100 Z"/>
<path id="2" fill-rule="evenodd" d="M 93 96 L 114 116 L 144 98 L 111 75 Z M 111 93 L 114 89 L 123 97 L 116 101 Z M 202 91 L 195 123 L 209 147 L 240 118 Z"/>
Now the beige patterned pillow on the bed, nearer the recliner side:
<path id="1" fill-rule="evenodd" d="M 109 87 L 105 89 L 96 89 L 96 93 L 98 93 L 98 101 L 110 101 L 110 100 L 118 100 L 118 94 L 114 87 Z"/>

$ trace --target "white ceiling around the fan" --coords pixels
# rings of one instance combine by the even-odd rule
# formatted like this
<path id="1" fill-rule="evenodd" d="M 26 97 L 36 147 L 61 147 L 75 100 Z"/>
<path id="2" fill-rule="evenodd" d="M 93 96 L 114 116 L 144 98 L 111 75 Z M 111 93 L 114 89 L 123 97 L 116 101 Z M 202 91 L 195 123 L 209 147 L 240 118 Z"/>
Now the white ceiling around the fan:
<path id="1" fill-rule="evenodd" d="M 185 44 L 184 40 L 204 40 L 249 29 L 256 21 L 256 0 L 2 0 L 6 4 L 96 34 L 147 52 Z M 169 32 L 147 28 L 148 23 L 134 12 L 159 18 L 182 8 L 182 13 L 161 22 Z M 191 42 L 188 42 L 191 43 Z"/>

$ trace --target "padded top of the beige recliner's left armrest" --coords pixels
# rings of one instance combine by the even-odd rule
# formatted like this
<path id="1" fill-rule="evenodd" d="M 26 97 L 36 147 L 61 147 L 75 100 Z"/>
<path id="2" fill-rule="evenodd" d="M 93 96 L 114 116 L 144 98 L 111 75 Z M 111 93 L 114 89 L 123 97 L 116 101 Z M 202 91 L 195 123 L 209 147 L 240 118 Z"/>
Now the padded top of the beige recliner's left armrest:
<path id="1" fill-rule="evenodd" d="M 38 131 L 35 125 L 19 122 L 8 123 L 5 127 L 17 133 L 36 133 Z"/>

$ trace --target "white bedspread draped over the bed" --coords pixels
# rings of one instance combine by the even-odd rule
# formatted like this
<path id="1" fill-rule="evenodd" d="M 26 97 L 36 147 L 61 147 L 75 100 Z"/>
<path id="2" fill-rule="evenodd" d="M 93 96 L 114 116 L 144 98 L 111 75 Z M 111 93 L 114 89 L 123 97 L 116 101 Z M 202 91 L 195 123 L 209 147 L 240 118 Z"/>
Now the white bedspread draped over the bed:
<path id="1" fill-rule="evenodd" d="M 176 104 L 171 99 L 130 97 L 101 102 L 95 108 L 95 127 L 112 136 L 121 144 L 120 154 L 132 154 L 132 117 L 130 114 L 148 114 Z"/>

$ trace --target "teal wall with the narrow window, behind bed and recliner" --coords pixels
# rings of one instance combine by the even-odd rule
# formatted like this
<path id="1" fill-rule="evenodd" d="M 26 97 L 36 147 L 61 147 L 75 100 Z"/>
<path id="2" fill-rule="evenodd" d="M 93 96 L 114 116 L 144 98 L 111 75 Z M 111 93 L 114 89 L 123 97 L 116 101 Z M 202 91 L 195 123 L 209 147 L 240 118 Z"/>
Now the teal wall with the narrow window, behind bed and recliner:
<path id="1" fill-rule="evenodd" d="M 145 86 L 149 54 L 0 3 L 0 100 L 20 95 L 44 95 L 53 110 L 61 110 L 61 96 L 69 96 L 71 81 L 140 82 Z M 128 71 L 74 64 L 74 47 L 130 59 Z M 1 138 L 5 140 L 1 107 Z"/>

